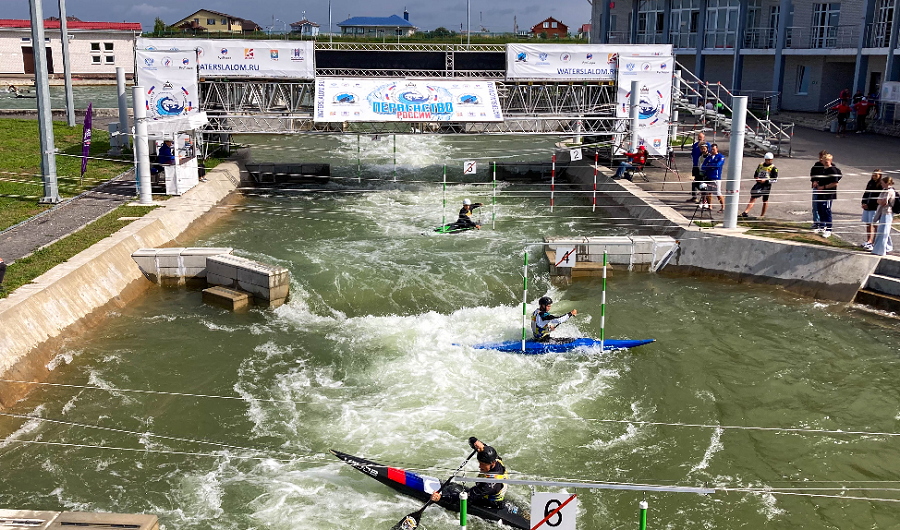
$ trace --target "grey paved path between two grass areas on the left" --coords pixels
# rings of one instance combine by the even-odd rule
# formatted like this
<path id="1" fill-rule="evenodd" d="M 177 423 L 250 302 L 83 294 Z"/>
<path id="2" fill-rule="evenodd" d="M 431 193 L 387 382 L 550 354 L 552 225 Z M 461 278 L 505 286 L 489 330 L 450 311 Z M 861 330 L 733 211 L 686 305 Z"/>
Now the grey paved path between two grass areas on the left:
<path id="1" fill-rule="evenodd" d="M 133 200 L 135 193 L 133 170 L 123 173 L 0 233 L 0 257 L 12 263 L 28 256 Z"/>

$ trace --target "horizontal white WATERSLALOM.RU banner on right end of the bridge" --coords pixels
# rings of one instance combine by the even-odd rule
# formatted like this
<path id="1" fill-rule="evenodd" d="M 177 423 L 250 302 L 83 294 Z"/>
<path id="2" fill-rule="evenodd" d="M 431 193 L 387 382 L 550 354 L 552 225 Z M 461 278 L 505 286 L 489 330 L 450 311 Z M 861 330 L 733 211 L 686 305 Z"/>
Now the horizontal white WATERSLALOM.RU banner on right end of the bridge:
<path id="1" fill-rule="evenodd" d="M 619 55 L 672 55 L 668 44 L 507 44 L 509 81 L 615 81 Z"/>

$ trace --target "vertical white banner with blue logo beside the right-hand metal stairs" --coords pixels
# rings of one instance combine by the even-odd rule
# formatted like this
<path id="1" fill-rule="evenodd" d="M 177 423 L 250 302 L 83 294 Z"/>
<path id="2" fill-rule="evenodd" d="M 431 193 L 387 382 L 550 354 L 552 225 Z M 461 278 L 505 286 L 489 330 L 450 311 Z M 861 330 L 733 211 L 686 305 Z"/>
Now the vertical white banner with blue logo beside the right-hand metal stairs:
<path id="1" fill-rule="evenodd" d="M 674 65 L 671 56 L 619 59 L 616 117 L 629 117 L 631 82 L 638 81 L 638 136 L 651 155 L 664 155 L 669 146 Z"/>

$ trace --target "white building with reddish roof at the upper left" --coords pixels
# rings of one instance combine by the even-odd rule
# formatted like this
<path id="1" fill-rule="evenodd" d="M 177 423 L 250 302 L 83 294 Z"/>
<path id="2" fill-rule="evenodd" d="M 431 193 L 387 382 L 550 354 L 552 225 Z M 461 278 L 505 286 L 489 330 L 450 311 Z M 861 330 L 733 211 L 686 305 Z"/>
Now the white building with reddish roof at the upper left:
<path id="1" fill-rule="evenodd" d="M 68 17 L 69 60 L 72 75 L 84 78 L 115 77 L 116 67 L 134 73 L 134 38 L 137 22 L 83 22 Z M 63 73 L 59 19 L 44 20 L 47 71 Z M 34 75 L 31 21 L 0 19 L 0 75 Z"/>

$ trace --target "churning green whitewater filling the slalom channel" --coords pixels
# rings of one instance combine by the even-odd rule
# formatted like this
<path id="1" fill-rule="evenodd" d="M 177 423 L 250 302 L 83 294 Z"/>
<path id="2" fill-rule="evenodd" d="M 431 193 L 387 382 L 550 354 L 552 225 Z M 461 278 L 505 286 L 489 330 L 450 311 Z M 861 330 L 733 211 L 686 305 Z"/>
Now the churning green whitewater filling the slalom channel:
<path id="1" fill-rule="evenodd" d="M 355 139 L 245 141 L 260 146 L 258 160 L 330 159 L 339 176 L 356 175 Z M 44 387 L 11 410 L 236 447 L 0 417 L 0 505 L 150 512 L 168 529 L 387 529 L 417 503 L 327 450 L 446 477 L 471 435 L 521 477 L 900 498 L 889 491 L 900 484 L 896 438 L 599 421 L 900 431 L 900 333 L 880 317 L 768 288 L 616 269 L 607 336 L 657 343 L 534 357 L 471 348 L 520 336 L 529 242 L 630 230 L 602 216 L 571 219 L 589 216 L 587 196 L 564 195 L 551 213 L 546 187 L 505 185 L 496 230 L 487 222 L 430 233 L 441 219 L 440 164 L 458 182 L 461 161 L 481 152 L 543 159 L 548 145 L 401 138 L 395 184 L 392 142 L 368 141 L 362 176 L 374 180 L 249 197 L 183 243 L 233 246 L 289 268 L 287 305 L 233 314 L 197 292 L 153 288 L 71 339 L 52 364 L 51 382 L 108 391 Z M 489 202 L 490 187 L 477 185 L 486 177 L 480 167 L 454 185 L 448 211 L 463 197 Z M 368 191 L 343 193 L 360 188 Z M 551 282 L 539 247 L 528 249 L 529 307 L 549 293 L 554 310 L 579 312 L 560 335 L 598 337 L 600 280 Z M 640 493 L 577 493 L 578 528 L 637 527 Z M 527 501 L 528 490 L 509 496 Z M 647 500 L 651 528 L 889 528 L 900 514 L 888 502 L 745 492 Z M 440 508 L 423 521 L 458 527 Z"/>

